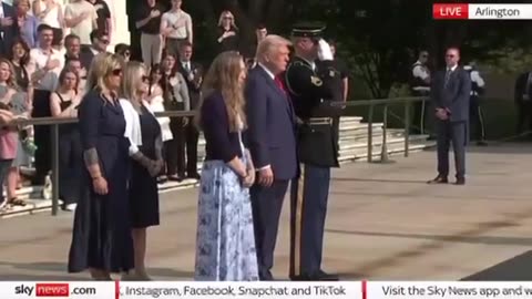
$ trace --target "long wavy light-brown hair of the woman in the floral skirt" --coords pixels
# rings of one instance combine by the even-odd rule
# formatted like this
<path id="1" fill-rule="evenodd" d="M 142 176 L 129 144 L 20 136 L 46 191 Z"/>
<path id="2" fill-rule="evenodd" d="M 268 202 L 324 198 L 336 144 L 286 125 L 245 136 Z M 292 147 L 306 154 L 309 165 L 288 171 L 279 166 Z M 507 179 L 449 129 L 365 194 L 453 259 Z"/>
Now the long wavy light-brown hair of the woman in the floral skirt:
<path id="1" fill-rule="evenodd" d="M 229 120 L 229 132 L 237 132 L 247 127 L 244 113 L 244 86 L 238 82 L 242 70 L 243 58 L 237 52 L 227 51 L 218 54 L 208 69 L 203 81 L 202 99 L 197 106 L 196 125 L 202 127 L 201 111 L 205 99 L 215 92 L 222 93 L 224 97 L 227 117 Z"/>

